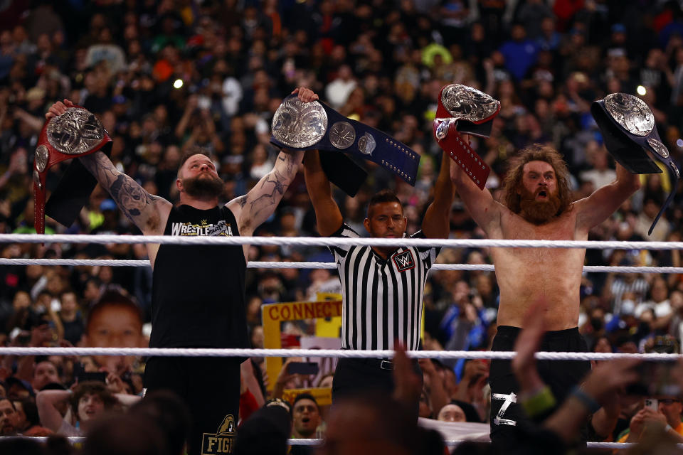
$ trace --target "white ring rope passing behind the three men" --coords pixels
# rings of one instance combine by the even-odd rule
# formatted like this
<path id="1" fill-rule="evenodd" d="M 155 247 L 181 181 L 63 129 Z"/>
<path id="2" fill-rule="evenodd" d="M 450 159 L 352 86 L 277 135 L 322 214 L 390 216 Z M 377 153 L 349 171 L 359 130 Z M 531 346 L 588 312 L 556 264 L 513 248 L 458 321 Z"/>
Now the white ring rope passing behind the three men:
<path id="1" fill-rule="evenodd" d="M 61 265 L 61 266 L 108 266 L 108 267 L 149 267 L 149 260 L 139 259 L 22 259 L 0 258 L 0 265 Z M 275 262 L 250 261 L 248 269 L 336 269 L 335 262 Z M 434 264 L 433 270 L 482 270 L 493 272 L 492 264 Z M 615 273 L 681 273 L 683 267 L 608 267 L 605 265 L 584 265 L 583 272 Z"/>

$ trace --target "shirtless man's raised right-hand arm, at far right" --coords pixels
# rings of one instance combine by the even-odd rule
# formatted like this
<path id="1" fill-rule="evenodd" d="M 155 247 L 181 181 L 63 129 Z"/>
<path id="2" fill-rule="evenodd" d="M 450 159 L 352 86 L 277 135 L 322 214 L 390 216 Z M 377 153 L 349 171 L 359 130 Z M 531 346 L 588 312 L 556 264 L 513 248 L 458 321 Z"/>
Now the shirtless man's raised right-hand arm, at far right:
<path id="1" fill-rule="evenodd" d="M 617 163 L 617 179 L 593 191 L 591 196 L 576 201 L 576 228 L 590 230 L 614 213 L 640 188 L 640 176 Z"/>

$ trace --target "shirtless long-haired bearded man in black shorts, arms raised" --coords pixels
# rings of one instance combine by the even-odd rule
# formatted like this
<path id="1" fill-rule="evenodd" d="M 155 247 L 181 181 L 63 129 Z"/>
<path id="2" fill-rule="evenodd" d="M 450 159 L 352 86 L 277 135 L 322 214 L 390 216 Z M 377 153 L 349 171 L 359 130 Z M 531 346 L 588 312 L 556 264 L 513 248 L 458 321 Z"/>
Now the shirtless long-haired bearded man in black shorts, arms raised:
<path id="1" fill-rule="evenodd" d="M 588 198 L 571 200 L 569 173 L 558 151 L 534 144 L 511 160 L 504 179 L 502 203 L 483 191 L 451 163 L 451 178 L 472 218 L 491 239 L 588 240 L 638 188 L 638 176 L 616 165 L 617 178 Z M 575 248 L 492 248 L 500 289 L 498 331 L 492 350 L 514 350 L 527 309 L 539 299 L 549 302 L 543 319 L 546 335 L 541 351 L 583 352 L 578 333 L 579 287 L 586 250 Z M 539 362 L 541 379 L 559 404 L 590 370 L 588 362 Z M 519 449 L 520 429 L 529 423 L 517 402 L 519 385 L 509 360 L 492 360 L 491 439 L 507 453 Z M 526 385 L 524 385 L 526 386 Z"/>

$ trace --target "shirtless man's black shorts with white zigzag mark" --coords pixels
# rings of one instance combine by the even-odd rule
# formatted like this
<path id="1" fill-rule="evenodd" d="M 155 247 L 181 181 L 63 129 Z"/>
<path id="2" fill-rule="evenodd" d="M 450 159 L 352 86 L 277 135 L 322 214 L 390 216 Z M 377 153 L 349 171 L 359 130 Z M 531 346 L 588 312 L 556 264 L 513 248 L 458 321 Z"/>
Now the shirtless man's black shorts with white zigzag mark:
<path id="1" fill-rule="evenodd" d="M 521 328 L 499 326 L 491 350 L 514 350 L 514 343 Z M 539 351 L 587 352 L 588 346 L 578 333 L 578 328 L 546 332 Z M 549 385 L 557 404 L 561 404 L 591 370 L 588 360 L 541 360 L 538 362 L 541 378 Z M 491 385 L 491 441 L 498 448 L 510 451 L 517 446 L 520 432 L 531 424 L 516 397 L 519 385 L 510 368 L 510 360 L 492 360 L 489 372 Z M 504 407 L 504 409 L 502 409 Z"/>

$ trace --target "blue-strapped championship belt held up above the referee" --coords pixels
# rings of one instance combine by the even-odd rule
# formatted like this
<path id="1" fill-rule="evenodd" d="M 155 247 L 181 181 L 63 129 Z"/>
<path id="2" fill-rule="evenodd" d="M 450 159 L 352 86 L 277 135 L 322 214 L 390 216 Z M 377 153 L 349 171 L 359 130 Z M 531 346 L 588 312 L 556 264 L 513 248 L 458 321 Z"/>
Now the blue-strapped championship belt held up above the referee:
<path id="1" fill-rule="evenodd" d="M 344 117 L 323 102 L 302 102 L 290 95 L 275 111 L 270 142 L 280 148 L 318 149 L 329 181 L 356 196 L 366 171 L 351 159 L 383 166 L 415 186 L 420 155 L 378 129 Z M 339 153 L 343 152 L 343 153 Z"/>

